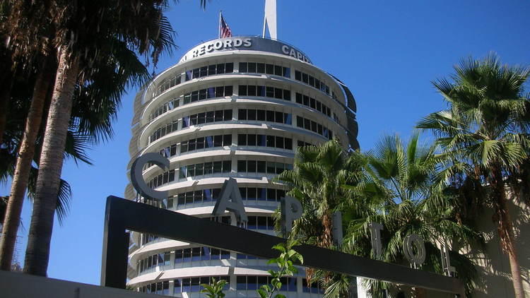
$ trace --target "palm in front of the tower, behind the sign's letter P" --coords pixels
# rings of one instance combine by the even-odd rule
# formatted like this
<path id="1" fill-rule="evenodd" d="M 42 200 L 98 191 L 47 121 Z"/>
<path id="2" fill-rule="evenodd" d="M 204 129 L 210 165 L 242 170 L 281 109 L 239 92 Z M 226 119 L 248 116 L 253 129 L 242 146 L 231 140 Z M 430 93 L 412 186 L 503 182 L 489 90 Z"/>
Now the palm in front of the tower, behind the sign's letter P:
<path id="1" fill-rule="evenodd" d="M 343 184 L 358 179 L 356 155 L 348 155 L 334 139 L 319 146 L 298 148 L 293 169 L 276 178 L 290 187 L 289 194 L 304 208 L 293 234 L 304 235 L 305 241 L 324 248 L 333 246 L 332 217 L 344 204 Z"/>

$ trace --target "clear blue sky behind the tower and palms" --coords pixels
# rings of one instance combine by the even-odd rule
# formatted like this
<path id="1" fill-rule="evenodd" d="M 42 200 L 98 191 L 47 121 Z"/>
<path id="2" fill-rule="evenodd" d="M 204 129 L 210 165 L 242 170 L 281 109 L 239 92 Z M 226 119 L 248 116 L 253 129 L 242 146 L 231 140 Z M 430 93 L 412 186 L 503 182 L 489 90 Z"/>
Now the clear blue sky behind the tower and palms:
<path id="1" fill-rule="evenodd" d="M 359 143 L 368 150 L 384 133 L 407 138 L 416 121 L 444 108 L 431 81 L 449 76 L 462 58 L 496 52 L 507 64 L 530 65 L 530 1 L 316 1 L 278 0 L 278 39 L 350 87 L 358 106 Z M 260 35 L 263 0 L 198 0 L 173 4 L 167 16 L 179 45 L 158 64 L 162 71 L 188 49 L 217 37 L 218 13 L 234 35 Z M 90 151 L 93 166 L 66 162 L 73 189 L 64 226 L 57 222 L 48 275 L 99 284 L 105 198 L 123 196 L 127 183 L 132 100 L 122 99 L 116 136 Z M 0 186 L 0 195 L 8 193 Z M 23 261 L 31 214 L 23 210 L 18 258 Z"/>

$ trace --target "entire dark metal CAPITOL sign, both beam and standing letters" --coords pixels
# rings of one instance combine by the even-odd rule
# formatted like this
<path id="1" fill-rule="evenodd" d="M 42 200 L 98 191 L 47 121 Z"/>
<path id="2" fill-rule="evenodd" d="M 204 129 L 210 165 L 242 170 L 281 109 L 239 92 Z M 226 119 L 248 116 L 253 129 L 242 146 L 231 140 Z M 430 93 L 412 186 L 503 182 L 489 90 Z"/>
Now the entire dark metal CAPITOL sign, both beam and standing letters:
<path id="1" fill-rule="evenodd" d="M 142 196 L 162 200 L 160 192 L 149 190 L 138 171 L 143 165 L 151 162 L 165 168 L 169 160 L 157 153 L 148 153 L 139 157 L 131 167 L 131 181 Z M 165 159 L 165 160 L 164 160 Z M 149 193 L 154 196 L 149 196 Z M 167 193 L 165 194 L 167 198 Z M 219 216 L 228 211 L 233 213 L 238 225 L 245 225 L 247 214 L 242 203 L 237 181 L 227 179 L 223 184 L 219 198 L 213 208 L 213 216 Z M 293 222 L 302 216 L 302 204 L 296 198 L 285 196 L 281 198 L 281 225 L 284 234 L 288 234 Z M 142 216 L 139 216 L 142 215 Z M 338 220 L 340 213 L 334 214 Z M 334 220 L 336 222 L 336 220 Z M 382 243 L 381 230 L 384 227 L 377 223 L 370 224 L 372 250 L 375 258 L 380 258 Z M 271 247 L 285 239 L 273 237 L 245 230 L 240 227 L 222 225 L 209 220 L 202 220 L 191 215 L 175 213 L 171 210 L 156 208 L 151 205 L 136 203 L 110 196 L 107 198 L 105 211 L 105 233 L 102 254 L 102 285 L 110 287 L 125 287 L 129 234 L 126 230 L 156 234 L 159 237 L 176 239 L 183 242 L 203 244 L 218 249 L 237 251 L 262 258 L 274 258 L 276 252 Z M 200 232 L 199 232 L 200 231 Z M 334 230 L 334 242 L 340 243 L 342 231 Z M 241 241 L 245 239 L 245 241 Z M 449 249 L 442 246 L 442 265 L 449 276 L 417 270 L 425 261 L 425 244 L 417 234 L 410 234 L 404 238 L 403 253 L 411 263 L 411 267 L 378 261 L 377 259 L 362 258 L 341 251 L 322 249 L 316 246 L 300 245 L 295 248 L 304 256 L 304 266 L 335 271 L 363 278 L 394 282 L 413 287 L 423 287 L 428 290 L 448 292 L 465 297 L 464 285 L 457 278 L 452 277 L 454 268 L 450 266 Z"/>

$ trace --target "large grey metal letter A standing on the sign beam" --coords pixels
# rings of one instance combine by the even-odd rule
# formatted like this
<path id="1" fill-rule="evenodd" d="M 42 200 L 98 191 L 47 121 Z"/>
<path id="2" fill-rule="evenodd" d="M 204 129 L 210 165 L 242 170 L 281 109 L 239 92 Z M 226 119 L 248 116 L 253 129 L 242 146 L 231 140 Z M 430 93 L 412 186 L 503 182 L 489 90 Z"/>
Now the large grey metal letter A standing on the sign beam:
<path id="1" fill-rule="evenodd" d="M 213 207 L 213 212 L 211 214 L 214 216 L 220 216 L 225 213 L 225 210 L 231 211 L 235 214 L 237 225 L 248 221 L 240 189 L 237 188 L 237 181 L 233 178 L 226 180 L 223 184 L 216 206 Z"/>

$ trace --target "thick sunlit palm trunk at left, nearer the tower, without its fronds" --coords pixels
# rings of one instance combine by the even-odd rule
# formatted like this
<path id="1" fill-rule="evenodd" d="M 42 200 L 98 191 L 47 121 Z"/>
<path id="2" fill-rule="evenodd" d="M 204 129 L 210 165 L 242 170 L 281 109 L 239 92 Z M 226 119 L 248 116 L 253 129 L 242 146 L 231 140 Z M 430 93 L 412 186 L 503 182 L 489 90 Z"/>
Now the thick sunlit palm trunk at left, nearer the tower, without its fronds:
<path id="1" fill-rule="evenodd" d="M 71 59 L 66 49 L 59 49 L 59 53 L 52 103 L 49 107 L 45 136 L 42 141 L 39 176 L 35 187 L 28 247 L 24 261 L 24 273 L 42 276 L 46 276 L 48 268 L 49 245 L 52 239 L 66 133 L 79 69 L 78 59 Z"/>

